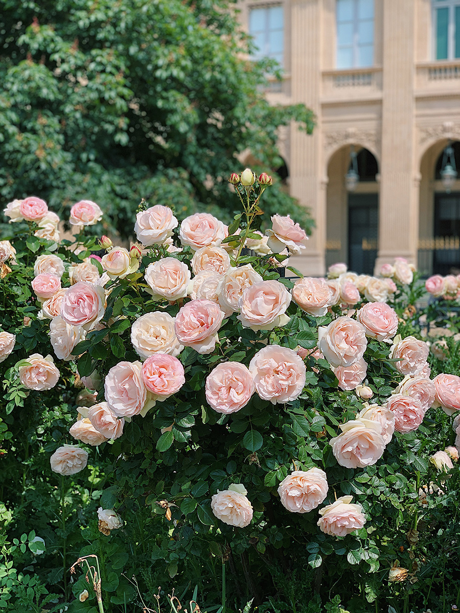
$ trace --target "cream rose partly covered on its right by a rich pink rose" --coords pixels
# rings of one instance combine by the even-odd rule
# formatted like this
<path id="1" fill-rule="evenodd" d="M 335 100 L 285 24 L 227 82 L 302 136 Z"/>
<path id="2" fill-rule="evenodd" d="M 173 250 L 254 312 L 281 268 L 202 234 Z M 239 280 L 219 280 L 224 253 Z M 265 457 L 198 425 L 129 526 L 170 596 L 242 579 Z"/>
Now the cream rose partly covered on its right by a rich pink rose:
<path id="1" fill-rule="evenodd" d="M 160 311 L 136 319 L 131 326 L 131 343 L 143 359 L 156 352 L 176 357 L 184 347 L 175 335 L 174 317 Z"/>

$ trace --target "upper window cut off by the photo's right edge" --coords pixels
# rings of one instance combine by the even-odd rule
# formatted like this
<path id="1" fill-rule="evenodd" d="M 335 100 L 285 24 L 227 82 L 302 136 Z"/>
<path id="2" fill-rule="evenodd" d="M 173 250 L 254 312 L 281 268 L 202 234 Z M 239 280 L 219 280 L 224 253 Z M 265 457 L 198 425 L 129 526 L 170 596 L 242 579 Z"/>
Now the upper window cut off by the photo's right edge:
<path id="1" fill-rule="evenodd" d="M 460 1 L 432 0 L 435 59 L 460 58 Z"/>

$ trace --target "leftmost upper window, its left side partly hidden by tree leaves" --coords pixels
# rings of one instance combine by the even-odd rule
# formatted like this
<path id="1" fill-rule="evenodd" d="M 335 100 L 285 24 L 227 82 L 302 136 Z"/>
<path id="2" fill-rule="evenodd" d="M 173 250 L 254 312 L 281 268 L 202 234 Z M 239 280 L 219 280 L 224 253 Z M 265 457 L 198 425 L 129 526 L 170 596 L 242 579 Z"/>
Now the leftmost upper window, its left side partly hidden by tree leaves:
<path id="1" fill-rule="evenodd" d="M 251 9 L 249 33 L 257 47 L 255 59 L 272 58 L 283 64 L 283 7 L 279 5 Z"/>

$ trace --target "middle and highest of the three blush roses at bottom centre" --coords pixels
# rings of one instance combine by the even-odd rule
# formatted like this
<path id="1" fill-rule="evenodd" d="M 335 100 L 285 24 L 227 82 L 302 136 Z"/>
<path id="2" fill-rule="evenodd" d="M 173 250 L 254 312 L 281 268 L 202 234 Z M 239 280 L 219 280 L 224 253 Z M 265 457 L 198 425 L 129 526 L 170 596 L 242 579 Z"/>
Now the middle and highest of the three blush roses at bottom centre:
<path id="1" fill-rule="evenodd" d="M 291 513 L 307 513 L 316 509 L 328 495 L 326 473 L 320 468 L 294 470 L 278 487 L 282 505 Z"/>

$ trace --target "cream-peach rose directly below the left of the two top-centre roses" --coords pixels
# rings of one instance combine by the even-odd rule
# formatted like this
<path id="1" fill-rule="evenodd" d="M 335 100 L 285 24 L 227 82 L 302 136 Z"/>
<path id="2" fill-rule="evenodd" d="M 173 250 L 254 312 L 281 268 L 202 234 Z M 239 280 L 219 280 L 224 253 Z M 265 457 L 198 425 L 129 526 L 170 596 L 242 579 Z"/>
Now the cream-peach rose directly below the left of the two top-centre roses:
<path id="1" fill-rule="evenodd" d="M 175 302 L 185 298 L 190 283 L 190 270 L 175 257 L 164 257 L 158 262 L 149 264 L 145 269 L 147 291 L 154 300 L 169 300 Z"/>

